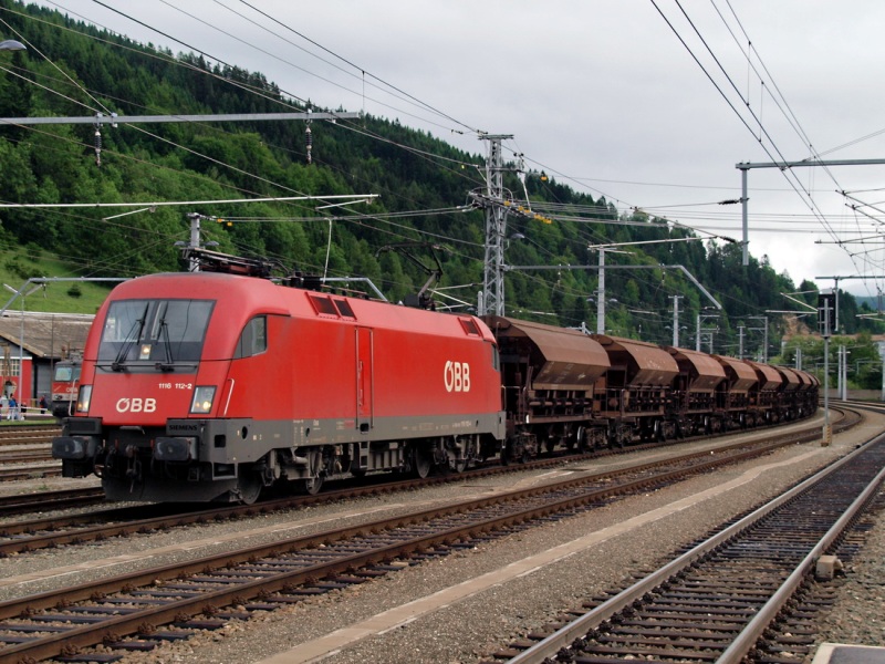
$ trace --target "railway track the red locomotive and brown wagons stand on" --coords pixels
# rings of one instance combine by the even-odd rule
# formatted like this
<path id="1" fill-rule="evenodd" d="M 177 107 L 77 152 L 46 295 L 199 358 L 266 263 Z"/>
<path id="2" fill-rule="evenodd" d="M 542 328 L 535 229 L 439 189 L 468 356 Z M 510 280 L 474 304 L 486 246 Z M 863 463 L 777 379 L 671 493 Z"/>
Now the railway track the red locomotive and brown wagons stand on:
<path id="1" fill-rule="evenodd" d="M 851 426 L 856 422 L 854 417 L 847 416 L 835 423 L 836 427 Z M 820 427 L 802 427 L 801 429 L 768 438 L 769 443 L 761 444 L 761 449 L 770 449 L 778 446 L 790 445 L 796 442 L 814 439 L 820 434 Z M 655 446 L 648 446 L 655 447 Z M 746 450 L 748 444 L 745 442 L 733 443 L 720 448 L 721 452 L 729 454 L 730 450 Z M 752 447 L 757 449 L 756 447 Z M 631 448 L 636 449 L 636 448 Z M 761 454 L 757 452 L 757 454 Z M 693 453 L 693 456 L 708 458 L 709 450 Z M 573 457 L 571 460 L 580 460 L 585 456 Z M 518 466 L 520 469 L 543 468 L 550 465 L 559 465 L 569 458 L 553 458 L 532 461 Z M 1 471 L 1 470 L 0 470 Z M 512 467 L 491 466 L 467 473 L 436 476 L 428 479 L 408 479 L 400 481 L 387 481 L 385 476 L 377 476 L 377 484 L 365 486 L 363 483 L 357 485 L 345 485 L 344 488 L 334 491 L 324 491 L 316 496 L 289 496 L 278 499 L 264 500 L 251 506 L 201 506 L 198 509 L 183 509 L 175 505 L 167 506 L 131 506 L 125 508 L 112 508 L 95 510 L 87 513 L 63 515 L 54 517 L 41 517 L 20 521 L 9 521 L 0 523 L 0 557 L 13 553 L 35 551 L 49 547 L 58 547 L 71 542 L 87 542 L 121 537 L 135 532 L 144 532 L 167 528 L 179 528 L 194 523 L 205 523 L 212 520 L 228 520 L 236 518 L 253 517 L 262 513 L 271 513 L 279 510 L 303 508 L 317 502 L 332 500 L 353 499 L 360 496 L 369 496 L 377 492 L 405 491 L 419 486 L 427 486 L 428 483 L 462 481 L 477 476 L 492 475 L 498 473 L 511 473 Z M 51 506 L 46 502 L 45 509 Z M 43 510 L 44 511 L 44 510 Z"/>

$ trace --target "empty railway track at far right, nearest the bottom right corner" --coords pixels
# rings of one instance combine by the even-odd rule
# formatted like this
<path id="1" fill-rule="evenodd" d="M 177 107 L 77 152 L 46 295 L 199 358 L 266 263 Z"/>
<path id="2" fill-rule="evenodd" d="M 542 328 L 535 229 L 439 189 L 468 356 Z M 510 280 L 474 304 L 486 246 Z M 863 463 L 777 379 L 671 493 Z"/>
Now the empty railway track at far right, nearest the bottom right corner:
<path id="1" fill-rule="evenodd" d="M 496 661 L 802 661 L 814 642 L 802 612 L 813 602 L 792 615 L 788 604 L 883 480 L 879 436 L 623 592 L 574 610 L 576 620 L 511 643 Z"/>

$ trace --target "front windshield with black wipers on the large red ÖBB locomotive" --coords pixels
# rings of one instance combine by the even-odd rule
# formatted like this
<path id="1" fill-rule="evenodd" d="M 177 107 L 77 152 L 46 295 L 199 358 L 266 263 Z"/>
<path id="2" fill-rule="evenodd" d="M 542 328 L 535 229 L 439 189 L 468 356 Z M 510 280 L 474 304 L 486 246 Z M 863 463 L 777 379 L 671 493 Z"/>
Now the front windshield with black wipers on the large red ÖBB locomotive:
<path id="1" fill-rule="evenodd" d="M 113 371 L 150 366 L 171 371 L 198 362 L 211 300 L 119 300 L 107 309 L 98 366 Z"/>

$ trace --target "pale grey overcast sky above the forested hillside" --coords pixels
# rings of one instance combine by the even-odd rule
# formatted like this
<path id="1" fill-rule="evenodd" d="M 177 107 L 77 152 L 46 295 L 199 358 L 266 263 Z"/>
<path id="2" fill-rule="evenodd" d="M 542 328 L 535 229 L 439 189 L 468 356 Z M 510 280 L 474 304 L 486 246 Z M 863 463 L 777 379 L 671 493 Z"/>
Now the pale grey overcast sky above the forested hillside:
<path id="1" fill-rule="evenodd" d="M 398 117 L 475 154 L 486 144 L 468 128 L 512 134 L 507 158 L 524 153 L 621 210 L 737 239 L 740 206 L 717 205 L 741 196 L 737 163 L 885 158 L 876 0 L 104 0 L 168 37 L 91 0 L 41 3 L 189 50 L 175 38 L 320 106 Z M 750 170 L 750 252 L 796 286 L 885 274 L 881 245 L 856 241 L 875 236 L 871 216 L 885 220 L 883 177 L 885 166 Z M 885 279 L 840 286 L 875 294 Z"/>

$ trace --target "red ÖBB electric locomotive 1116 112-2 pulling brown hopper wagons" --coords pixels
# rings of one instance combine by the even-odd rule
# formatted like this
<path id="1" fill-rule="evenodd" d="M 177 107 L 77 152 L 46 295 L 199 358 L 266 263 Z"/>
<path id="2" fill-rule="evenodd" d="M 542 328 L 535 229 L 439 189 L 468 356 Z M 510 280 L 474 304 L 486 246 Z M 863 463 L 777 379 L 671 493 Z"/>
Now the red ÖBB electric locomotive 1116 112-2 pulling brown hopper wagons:
<path id="1" fill-rule="evenodd" d="M 315 492 L 500 452 L 498 349 L 479 319 L 220 270 L 113 290 L 53 440 L 65 476 L 95 473 L 111 499 L 250 502 L 279 480 Z"/>

